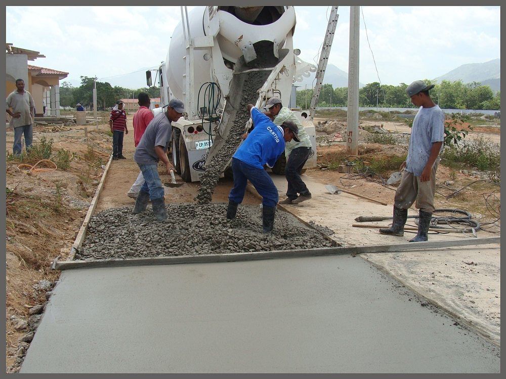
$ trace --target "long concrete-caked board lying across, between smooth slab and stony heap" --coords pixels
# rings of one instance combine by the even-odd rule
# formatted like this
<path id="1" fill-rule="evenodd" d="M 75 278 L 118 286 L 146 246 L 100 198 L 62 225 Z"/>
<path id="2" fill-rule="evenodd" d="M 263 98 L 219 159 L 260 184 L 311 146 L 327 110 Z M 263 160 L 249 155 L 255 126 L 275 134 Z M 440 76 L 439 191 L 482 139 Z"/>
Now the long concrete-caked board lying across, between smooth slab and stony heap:
<path id="1" fill-rule="evenodd" d="M 97 268 L 97 267 L 121 267 L 121 266 L 140 266 L 152 264 L 182 264 L 182 263 L 215 263 L 232 261 L 250 261 L 260 259 L 276 258 L 298 258 L 315 257 L 321 255 L 340 255 L 340 254 L 364 254 L 364 253 L 389 253 L 407 250 L 438 249 L 455 246 L 476 246 L 484 244 L 500 244 L 500 237 L 493 238 L 473 238 L 454 241 L 435 241 L 435 242 L 412 242 L 397 245 L 370 245 L 370 246 L 336 246 L 321 249 L 307 250 L 273 250 L 249 253 L 229 253 L 229 254 L 205 254 L 177 257 L 156 257 L 156 258 L 134 258 L 134 259 L 111 259 L 101 261 L 63 261 L 55 260 L 53 267 L 58 270 L 67 270 L 73 268 Z M 444 253 L 444 250 L 440 250 Z"/>

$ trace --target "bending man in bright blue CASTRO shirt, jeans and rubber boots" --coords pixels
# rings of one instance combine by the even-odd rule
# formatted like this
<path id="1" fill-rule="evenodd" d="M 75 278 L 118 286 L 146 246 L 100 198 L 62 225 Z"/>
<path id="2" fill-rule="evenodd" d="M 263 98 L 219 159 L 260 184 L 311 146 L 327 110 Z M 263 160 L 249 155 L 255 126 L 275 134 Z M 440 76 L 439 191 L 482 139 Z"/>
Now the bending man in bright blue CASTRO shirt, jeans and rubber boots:
<path id="1" fill-rule="evenodd" d="M 284 152 L 285 142 L 292 139 L 299 141 L 298 127 L 290 121 L 277 126 L 252 104 L 247 105 L 247 110 L 251 114 L 254 128 L 232 157 L 234 187 L 228 195 L 227 218 L 235 218 L 237 206 L 242 203 L 249 179 L 262 196 L 263 231 L 267 233 L 274 228 L 279 196 L 274 182 L 264 170 L 264 165 L 271 168 L 274 166 Z"/>

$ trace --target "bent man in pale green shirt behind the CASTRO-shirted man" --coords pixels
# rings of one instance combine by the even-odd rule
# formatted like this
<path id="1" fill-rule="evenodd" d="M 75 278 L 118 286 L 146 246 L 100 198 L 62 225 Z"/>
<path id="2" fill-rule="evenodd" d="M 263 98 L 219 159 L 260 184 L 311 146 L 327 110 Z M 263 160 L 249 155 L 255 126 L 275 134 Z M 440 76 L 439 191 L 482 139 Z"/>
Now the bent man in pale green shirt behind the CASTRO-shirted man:
<path id="1" fill-rule="evenodd" d="M 281 99 L 270 98 L 265 107 L 268 112 L 265 114 L 273 119 L 275 125 L 281 125 L 285 121 L 291 121 L 299 128 L 300 141 L 292 140 L 285 146 L 285 176 L 288 182 L 286 190 L 286 199 L 279 204 L 298 204 L 311 199 L 311 193 L 301 178 L 301 171 L 307 160 L 311 156 L 312 145 L 306 129 L 301 120 L 290 109 L 283 107 Z"/>

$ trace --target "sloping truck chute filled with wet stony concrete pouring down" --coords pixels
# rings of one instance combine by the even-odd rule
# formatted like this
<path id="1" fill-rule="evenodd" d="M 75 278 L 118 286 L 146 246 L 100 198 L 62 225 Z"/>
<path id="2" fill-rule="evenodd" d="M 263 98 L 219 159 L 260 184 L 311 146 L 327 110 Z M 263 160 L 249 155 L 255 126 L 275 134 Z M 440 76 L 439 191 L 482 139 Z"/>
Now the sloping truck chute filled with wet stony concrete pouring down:
<path id="1" fill-rule="evenodd" d="M 266 60 L 266 63 L 273 66 L 271 60 Z M 200 177 L 197 195 L 199 204 L 210 202 L 220 174 L 225 170 L 241 143 L 246 122 L 250 117 L 246 106 L 257 104 L 258 90 L 274 70 L 274 67 L 259 67 L 260 65 L 261 62 L 256 62 L 256 68 L 248 67 L 243 57 L 239 58 L 235 64 L 223 115 L 216 130 L 213 146 L 209 149 L 205 161 L 205 171 Z"/>

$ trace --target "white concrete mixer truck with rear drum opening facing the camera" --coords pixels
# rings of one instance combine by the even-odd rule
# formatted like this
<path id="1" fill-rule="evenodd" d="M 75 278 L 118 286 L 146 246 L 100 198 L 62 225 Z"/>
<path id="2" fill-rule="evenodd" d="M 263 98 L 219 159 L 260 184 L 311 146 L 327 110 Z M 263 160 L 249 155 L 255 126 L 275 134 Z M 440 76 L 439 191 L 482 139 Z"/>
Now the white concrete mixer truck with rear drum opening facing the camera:
<path id="1" fill-rule="evenodd" d="M 293 48 L 295 26 L 293 7 L 205 6 L 191 12 L 181 7 L 181 22 L 156 73 L 162 107 L 155 112 L 163 111 L 171 97 L 185 103 L 186 114 L 172 124 L 171 145 L 174 167 L 183 180 L 198 181 L 206 162 L 223 154 L 220 146 L 231 138 L 237 117 L 246 113 L 238 109 L 241 99 L 250 99 L 263 109 L 269 98 L 278 97 L 288 106 L 292 83 L 316 71 L 316 66 L 299 59 L 300 50 Z M 256 73 L 263 76 L 252 88 L 251 78 Z M 152 85 L 150 71 L 146 78 Z M 306 167 L 314 167 L 314 125 L 302 116 L 301 121 L 313 144 Z M 242 132 L 248 122 L 243 122 Z M 237 137 L 237 132 L 234 135 Z M 273 171 L 282 173 L 284 166 L 278 164 Z"/>

